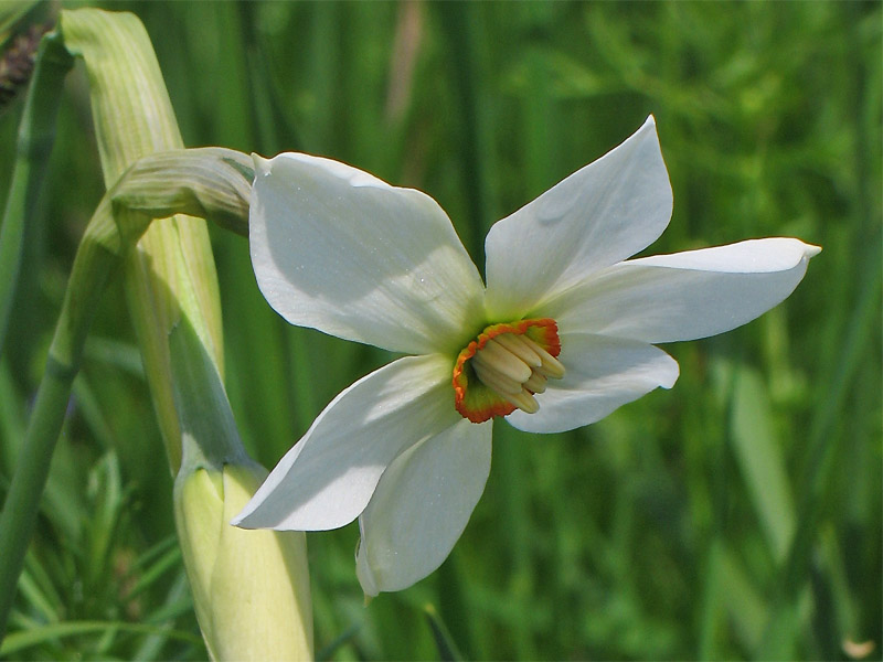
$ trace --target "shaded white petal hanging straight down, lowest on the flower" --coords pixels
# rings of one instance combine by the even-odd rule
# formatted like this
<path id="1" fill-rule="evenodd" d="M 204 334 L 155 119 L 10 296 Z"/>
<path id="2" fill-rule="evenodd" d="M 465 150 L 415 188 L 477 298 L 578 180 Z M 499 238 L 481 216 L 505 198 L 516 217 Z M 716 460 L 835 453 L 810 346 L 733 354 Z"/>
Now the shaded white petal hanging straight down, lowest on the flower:
<path id="1" fill-rule="evenodd" d="M 390 465 L 359 517 L 365 595 L 407 588 L 447 558 L 485 491 L 492 428 L 460 419 Z"/>

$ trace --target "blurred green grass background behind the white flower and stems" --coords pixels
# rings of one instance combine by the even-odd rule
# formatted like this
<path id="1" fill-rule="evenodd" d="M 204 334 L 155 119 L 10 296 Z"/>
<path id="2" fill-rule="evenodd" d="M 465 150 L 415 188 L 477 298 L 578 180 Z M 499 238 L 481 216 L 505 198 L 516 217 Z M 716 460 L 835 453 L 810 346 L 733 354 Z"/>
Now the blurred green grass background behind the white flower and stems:
<path id="1" fill-rule="evenodd" d="M 879 2 L 103 7 L 145 22 L 188 146 L 302 150 L 419 188 L 480 267 L 496 220 L 651 113 L 674 213 L 648 253 L 777 235 L 825 248 L 759 320 L 666 346 L 681 365 L 670 392 L 568 434 L 497 421 L 483 498 L 413 588 L 364 607 L 357 526 L 310 534 L 320 654 L 444 658 L 443 623 L 469 659 L 831 660 L 866 641 L 880 659 Z M 19 100 L 0 116 L 3 184 L 20 113 Z M 103 193 L 91 131 L 77 68 L 0 355 L 2 491 Z M 230 397 L 270 467 L 389 356 L 287 325 L 257 291 L 246 242 L 216 228 L 212 239 Z M 161 448 L 115 282 L 7 656 L 205 656 Z"/>

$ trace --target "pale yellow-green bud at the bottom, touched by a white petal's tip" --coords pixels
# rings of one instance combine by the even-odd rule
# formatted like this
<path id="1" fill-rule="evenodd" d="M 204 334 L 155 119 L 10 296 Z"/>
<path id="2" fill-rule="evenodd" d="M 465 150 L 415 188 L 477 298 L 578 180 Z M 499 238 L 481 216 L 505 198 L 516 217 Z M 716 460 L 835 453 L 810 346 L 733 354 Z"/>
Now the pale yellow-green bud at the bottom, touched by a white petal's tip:
<path id="1" fill-rule="evenodd" d="M 214 660 L 309 660 L 306 536 L 230 520 L 267 471 L 251 461 L 179 473 L 174 514 L 196 618 Z"/>

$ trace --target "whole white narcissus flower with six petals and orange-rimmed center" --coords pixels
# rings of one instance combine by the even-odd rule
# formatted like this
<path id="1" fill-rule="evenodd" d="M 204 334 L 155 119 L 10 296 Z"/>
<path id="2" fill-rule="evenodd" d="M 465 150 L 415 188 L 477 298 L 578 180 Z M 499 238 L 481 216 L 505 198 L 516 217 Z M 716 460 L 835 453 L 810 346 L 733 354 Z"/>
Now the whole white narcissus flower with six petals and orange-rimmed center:
<path id="1" fill-rule="evenodd" d="M 301 153 L 255 158 L 255 170 L 252 263 L 270 306 L 408 355 L 338 395 L 234 524 L 316 531 L 359 517 L 369 596 L 450 553 L 485 489 L 493 417 L 570 430 L 670 388 L 678 364 L 653 343 L 753 320 L 820 250 L 767 238 L 626 260 L 671 216 L 652 117 L 491 227 L 487 287 L 428 195 Z"/>

